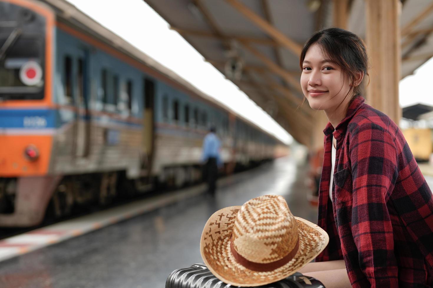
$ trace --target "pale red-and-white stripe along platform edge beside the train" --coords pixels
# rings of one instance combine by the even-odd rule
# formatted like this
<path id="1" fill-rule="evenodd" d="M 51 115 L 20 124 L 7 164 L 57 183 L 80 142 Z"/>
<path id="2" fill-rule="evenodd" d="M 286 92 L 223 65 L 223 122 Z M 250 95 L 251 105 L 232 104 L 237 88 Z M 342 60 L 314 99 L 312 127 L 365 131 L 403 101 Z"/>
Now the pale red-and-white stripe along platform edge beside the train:
<path id="1" fill-rule="evenodd" d="M 249 171 L 221 178 L 217 183 L 221 186 L 233 184 L 234 178 L 241 177 L 247 172 Z M 205 184 L 199 184 L 175 190 L 3 239 L 0 241 L 0 262 L 142 215 L 179 200 L 197 196 L 204 193 L 205 187 Z"/>

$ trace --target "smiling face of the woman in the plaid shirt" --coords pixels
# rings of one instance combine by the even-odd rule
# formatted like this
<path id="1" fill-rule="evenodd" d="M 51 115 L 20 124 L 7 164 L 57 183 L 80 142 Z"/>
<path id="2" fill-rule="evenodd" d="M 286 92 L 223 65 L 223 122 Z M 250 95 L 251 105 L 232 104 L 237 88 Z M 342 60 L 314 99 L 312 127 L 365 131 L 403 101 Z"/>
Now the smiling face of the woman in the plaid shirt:
<path id="1" fill-rule="evenodd" d="M 318 44 L 308 48 L 302 68 L 302 92 L 310 107 L 314 110 L 334 111 L 350 90 L 350 83 L 347 77 L 344 78 L 341 68 L 323 58 Z"/>

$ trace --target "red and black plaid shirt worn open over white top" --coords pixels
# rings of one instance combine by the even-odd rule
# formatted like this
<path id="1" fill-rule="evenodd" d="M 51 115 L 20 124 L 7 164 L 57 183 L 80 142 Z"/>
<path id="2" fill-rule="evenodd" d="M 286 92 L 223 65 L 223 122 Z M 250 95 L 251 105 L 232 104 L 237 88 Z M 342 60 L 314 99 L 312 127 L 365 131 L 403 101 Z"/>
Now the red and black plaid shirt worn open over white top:
<path id="1" fill-rule="evenodd" d="M 358 95 L 325 130 L 316 261 L 344 259 L 353 287 L 433 285 L 433 197 L 398 126 Z M 333 203 L 332 135 L 337 140 Z"/>

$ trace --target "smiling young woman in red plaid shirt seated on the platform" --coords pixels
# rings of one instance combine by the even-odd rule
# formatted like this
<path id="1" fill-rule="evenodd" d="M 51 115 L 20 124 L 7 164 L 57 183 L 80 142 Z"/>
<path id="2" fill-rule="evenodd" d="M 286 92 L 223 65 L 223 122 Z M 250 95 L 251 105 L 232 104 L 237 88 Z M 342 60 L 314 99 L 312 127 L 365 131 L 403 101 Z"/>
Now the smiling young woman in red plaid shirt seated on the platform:
<path id="1" fill-rule="evenodd" d="M 365 103 L 362 40 L 319 31 L 300 65 L 305 98 L 329 119 L 318 225 L 330 242 L 299 272 L 326 288 L 432 286 L 432 192 L 398 126 Z"/>

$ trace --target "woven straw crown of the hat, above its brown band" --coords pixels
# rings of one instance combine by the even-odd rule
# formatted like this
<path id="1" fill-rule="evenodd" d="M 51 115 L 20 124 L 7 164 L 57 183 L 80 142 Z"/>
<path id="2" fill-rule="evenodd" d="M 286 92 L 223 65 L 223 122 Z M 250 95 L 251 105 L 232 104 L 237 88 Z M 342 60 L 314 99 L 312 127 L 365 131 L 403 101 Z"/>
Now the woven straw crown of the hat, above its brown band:
<path id="1" fill-rule="evenodd" d="M 255 263 L 271 263 L 297 244 L 297 223 L 281 196 L 252 199 L 239 210 L 232 234 L 235 250 Z"/>

